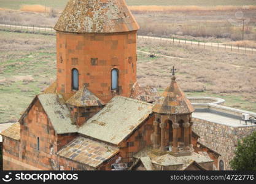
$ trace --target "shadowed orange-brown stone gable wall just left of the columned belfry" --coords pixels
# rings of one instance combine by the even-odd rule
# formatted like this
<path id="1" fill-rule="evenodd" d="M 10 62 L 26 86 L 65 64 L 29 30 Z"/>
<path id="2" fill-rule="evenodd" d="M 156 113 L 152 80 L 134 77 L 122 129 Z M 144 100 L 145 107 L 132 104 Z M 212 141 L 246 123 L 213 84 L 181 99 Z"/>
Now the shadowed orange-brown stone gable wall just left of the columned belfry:
<path id="1" fill-rule="evenodd" d="M 152 145 L 150 137 L 153 133 L 153 120 L 153 115 L 150 115 L 140 128 L 120 144 L 120 156 L 122 157 L 122 162 L 130 163 L 133 161 L 134 153 Z"/>

